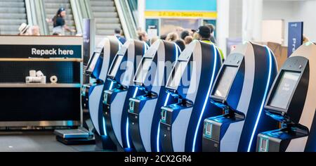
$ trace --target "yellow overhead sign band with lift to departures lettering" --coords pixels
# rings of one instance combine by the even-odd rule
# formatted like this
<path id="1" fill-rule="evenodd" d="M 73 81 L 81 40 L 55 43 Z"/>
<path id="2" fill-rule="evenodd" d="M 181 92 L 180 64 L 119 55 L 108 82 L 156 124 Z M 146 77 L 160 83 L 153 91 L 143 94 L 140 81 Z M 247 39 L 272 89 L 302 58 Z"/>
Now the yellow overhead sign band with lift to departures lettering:
<path id="1" fill-rule="evenodd" d="M 145 17 L 150 18 L 217 18 L 216 12 L 194 11 L 145 11 Z"/>

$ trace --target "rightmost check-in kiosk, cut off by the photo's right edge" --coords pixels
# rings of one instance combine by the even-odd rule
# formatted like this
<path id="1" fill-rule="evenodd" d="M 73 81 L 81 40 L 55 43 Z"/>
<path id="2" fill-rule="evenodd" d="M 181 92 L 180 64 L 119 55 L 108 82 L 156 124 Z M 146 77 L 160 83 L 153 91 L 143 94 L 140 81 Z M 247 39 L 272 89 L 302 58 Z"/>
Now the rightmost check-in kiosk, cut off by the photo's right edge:
<path id="1" fill-rule="evenodd" d="M 316 151 L 316 45 L 299 47 L 284 63 L 265 103 L 281 129 L 258 134 L 259 152 Z"/>

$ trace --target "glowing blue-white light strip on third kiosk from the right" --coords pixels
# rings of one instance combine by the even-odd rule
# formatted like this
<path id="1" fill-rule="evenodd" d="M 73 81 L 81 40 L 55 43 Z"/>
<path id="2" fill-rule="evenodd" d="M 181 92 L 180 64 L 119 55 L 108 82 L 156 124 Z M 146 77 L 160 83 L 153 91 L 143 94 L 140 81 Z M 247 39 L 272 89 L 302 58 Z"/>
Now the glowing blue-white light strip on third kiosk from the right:
<path id="1" fill-rule="evenodd" d="M 195 129 L 195 138 L 193 139 L 192 152 L 195 152 L 195 144 L 197 142 L 197 132 L 199 130 L 199 125 L 201 124 L 201 121 L 202 121 L 202 116 L 204 114 L 206 104 L 209 102 L 209 94 L 211 94 L 211 88 L 213 87 L 214 78 L 215 78 L 216 63 L 217 63 L 217 56 L 218 55 L 217 55 L 217 49 L 214 46 L 214 44 L 212 44 L 212 46 L 213 46 L 213 49 L 214 49 L 213 74 L 212 74 L 211 82 L 210 82 L 210 85 L 209 85 L 209 91 L 207 91 L 207 95 L 206 95 L 206 98 L 205 98 L 205 101 L 204 101 L 204 105 L 203 105 L 203 108 L 202 108 L 202 113 L 199 115 L 199 122 L 197 122 L 197 128 Z"/>

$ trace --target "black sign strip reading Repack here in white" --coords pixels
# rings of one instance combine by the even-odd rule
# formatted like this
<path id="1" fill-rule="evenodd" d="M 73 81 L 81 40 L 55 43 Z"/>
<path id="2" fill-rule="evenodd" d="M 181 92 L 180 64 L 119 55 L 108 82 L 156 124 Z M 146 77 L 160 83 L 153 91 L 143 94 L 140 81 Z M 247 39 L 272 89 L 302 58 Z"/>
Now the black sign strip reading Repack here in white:
<path id="1" fill-rule="evenodd" d="M 0 45 L 0 58 L 82 58 L 81 46 Z"/>

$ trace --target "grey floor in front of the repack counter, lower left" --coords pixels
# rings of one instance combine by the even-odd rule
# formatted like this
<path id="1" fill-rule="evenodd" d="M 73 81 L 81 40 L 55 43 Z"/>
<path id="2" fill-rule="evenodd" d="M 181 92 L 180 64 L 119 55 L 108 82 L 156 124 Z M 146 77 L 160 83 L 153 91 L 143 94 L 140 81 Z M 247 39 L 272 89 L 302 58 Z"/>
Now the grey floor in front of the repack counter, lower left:
<path id="1" fill-rule="evenodd" d="M 93 152 L 96 145 L 66 146 L 53 132 L 0 132 L 0 152 Z"/>

